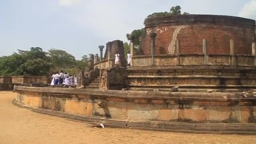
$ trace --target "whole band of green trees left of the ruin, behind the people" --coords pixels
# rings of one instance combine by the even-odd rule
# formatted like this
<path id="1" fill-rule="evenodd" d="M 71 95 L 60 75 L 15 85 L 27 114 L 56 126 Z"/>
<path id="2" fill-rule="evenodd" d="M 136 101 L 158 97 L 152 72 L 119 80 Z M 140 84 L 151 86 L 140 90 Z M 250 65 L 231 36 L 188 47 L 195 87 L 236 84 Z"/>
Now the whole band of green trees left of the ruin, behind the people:
<path id="1" fill-rule="evenodd" d="M 63 70 L 75 75 L 78 69 L 87 67 L 88 56 L 76 60 L 66 51 L 52 48 L 48 52 L 32 47 L 29 51 L 19 50 L 10 56 L 0 57 L 0 75 L 51 75 Z"/>

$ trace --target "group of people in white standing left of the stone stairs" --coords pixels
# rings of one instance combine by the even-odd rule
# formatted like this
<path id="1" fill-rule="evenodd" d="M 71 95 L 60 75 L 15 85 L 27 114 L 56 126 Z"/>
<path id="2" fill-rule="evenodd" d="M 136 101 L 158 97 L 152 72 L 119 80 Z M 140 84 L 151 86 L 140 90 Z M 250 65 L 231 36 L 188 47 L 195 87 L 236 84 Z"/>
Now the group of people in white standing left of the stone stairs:
<path id="1" fill-rule="evenodd" d="M 75 88 L 77 87 L 77 77 L 69 76 L 67 72 L 63 72 L 61 70 L 61 73 L 56 72 L 56 74 L 52 75 L 53 80 L 51 81 L 51 85 L 58 85 L 58 84 L 64 84 L 68 85 L 75 85 Z"/>

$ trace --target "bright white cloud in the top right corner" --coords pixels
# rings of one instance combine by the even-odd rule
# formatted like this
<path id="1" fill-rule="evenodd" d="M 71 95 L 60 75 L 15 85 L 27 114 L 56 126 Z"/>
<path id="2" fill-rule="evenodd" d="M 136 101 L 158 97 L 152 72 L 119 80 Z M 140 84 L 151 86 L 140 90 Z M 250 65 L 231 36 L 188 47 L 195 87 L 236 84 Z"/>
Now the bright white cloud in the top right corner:
<path id="1" fill-rule="evenodd" d="M 250 0 L 248 3 L 245 3 L 238 16 L 256 19 L 256 0 Z"/>

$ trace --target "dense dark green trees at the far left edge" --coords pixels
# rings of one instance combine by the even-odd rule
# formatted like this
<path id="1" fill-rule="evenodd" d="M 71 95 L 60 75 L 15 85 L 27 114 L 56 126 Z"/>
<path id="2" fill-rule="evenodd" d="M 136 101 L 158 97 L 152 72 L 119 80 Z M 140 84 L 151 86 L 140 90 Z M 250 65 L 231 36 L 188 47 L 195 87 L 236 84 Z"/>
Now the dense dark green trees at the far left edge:
<path id="1" fill-rule="evenodd" d="M 47 75 L 53 64 L 42 48 L 18 50 L 0 58 L 0 75 Z"/>

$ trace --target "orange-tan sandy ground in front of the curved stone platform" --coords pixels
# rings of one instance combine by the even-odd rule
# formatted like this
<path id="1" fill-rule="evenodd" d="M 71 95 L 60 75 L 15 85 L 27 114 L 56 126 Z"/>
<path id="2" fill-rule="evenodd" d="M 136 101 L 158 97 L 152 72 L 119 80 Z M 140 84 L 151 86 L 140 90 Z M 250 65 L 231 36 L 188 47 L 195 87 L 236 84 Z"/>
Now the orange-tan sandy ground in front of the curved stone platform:
<path id="1" fill-rule="evenodd" d="M 16 93 L 0 92 L 0 144 L 255 144 L 256 136 L 92 128 L 11 104 Z"/>

